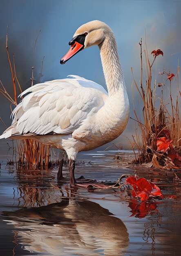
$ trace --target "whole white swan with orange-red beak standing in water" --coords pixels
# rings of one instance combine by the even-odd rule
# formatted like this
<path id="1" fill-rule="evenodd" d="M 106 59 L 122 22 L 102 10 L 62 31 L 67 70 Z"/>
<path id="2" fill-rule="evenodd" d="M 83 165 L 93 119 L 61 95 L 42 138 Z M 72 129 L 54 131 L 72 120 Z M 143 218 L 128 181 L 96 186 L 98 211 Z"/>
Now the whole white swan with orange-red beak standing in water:
<path id="1" fill-rule="evenodd" d="M 74 177 L 78 152 L 92 150 L 116 139 L 127 126 L 129 100 L 118 56 L 116 39 L 110 27 L 99 20 L 80 26 L 70 49 L 61 59 L 65 64 L 81 50 L 98 45 L 107 90 L 80 76 L 38 83 L 12 112 L 12 125 L 2 138 L 34 139 L 67 153 L 71 186 L 87 186 Z M 58 179 L 63 179 L 63 161 Z"/>

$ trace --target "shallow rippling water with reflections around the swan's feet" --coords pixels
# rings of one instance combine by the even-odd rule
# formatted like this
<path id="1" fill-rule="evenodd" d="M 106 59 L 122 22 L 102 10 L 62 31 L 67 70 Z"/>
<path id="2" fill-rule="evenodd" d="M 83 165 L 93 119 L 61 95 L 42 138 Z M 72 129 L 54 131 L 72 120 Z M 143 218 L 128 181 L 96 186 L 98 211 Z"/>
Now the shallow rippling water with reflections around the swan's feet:
<path id="1" fill-rule="evenodd" d="M 126 165 L 130 153 L 120 151 L 118 161 L 116 151 L 79 153 L 76 177 L 116 182 L 136 171 L 161 188 L 163 200 L 138 203 L 120 189 L 73 190 L 57 182 L 56 167 L 20 172 L 1 162 L 1 255 L 181 255 L 180 184 L 174 172 Z"/>

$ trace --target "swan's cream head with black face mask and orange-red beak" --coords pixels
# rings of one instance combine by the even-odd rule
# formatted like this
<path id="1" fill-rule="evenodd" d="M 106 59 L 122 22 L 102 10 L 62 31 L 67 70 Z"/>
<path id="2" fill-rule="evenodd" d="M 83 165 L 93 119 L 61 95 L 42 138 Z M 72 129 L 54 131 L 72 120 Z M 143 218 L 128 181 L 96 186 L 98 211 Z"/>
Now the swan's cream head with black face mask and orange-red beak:
<path id="1" fill-rule="evenodd" d="M 60 64 L 64 64 L 75 54 L 87 47 L 100 45 L 108 32 L 111 33 L 112 30 L 104 22 L 99 20 L 85 23 L 76 30 L 72 40 L 69 42 L 71 47 L 61 59 Z"/>

